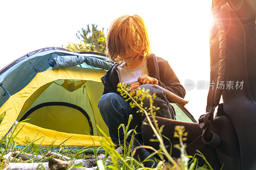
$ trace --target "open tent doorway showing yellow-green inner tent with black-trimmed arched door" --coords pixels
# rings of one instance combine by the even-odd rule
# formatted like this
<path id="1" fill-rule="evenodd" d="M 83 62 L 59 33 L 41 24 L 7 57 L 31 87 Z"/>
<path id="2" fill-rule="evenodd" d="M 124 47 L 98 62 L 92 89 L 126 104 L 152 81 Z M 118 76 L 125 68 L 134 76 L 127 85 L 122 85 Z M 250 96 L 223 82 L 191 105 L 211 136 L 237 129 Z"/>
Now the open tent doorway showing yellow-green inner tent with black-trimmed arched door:
<path id="1" fill-rule="evenodd" d="M 59 79 L 37 91 L 30 97 L 33 100 L 25 102 L 19 122 L 29 119 L 26 122 L 45 129 L 102 136 L 98 125 L 108 135 L 97 107 L 103 92 L 101 82 Z"/>

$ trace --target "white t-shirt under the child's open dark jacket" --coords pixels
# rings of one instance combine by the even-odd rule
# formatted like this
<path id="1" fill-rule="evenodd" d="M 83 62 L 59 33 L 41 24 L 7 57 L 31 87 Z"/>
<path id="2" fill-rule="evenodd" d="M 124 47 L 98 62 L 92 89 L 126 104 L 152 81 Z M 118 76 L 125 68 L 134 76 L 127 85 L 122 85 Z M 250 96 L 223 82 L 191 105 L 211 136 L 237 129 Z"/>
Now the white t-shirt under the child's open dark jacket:
<path id="1" fill-rule="evenodd" d="M 123 82 L 128 88 L 131 87 L 133 83 L 136 83 L 140 76 L 144 76 L 145 74 L 148 75 L 147 61 L 145 61 L 145 63 L 143 63 L 138 69 L 128 69 L 126 63 L 124 62 L 117 66 L 116 70 L 119 83 Z"/>

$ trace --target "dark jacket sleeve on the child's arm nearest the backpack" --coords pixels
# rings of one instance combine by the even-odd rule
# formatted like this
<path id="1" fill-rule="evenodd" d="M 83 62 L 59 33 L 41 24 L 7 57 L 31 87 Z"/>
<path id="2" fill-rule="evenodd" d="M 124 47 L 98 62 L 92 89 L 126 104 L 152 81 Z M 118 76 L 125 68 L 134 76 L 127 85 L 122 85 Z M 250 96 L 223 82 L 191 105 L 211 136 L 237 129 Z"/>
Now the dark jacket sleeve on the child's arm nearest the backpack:
<path id="1" fill-rule="evenodd" d="M 180 84 L 179 79 L 177 78 L 167 61 L 162 69 L 159 69 L 159 78 L 160 81 L 158 80 L 158 84 L 161 87 L 173 92 L 174 94 L 182 98 L 185 97 L 185 88 Z"/>

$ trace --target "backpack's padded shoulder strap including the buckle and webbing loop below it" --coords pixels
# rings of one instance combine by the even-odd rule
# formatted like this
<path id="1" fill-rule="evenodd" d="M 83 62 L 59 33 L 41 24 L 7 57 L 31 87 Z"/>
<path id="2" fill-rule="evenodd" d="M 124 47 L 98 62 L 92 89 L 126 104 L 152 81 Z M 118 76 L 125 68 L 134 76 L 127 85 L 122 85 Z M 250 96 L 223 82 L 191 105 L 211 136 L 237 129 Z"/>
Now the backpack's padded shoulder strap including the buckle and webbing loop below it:
<path id="1" fill-rule="evenodd" d="M 201 115 L 198 119 L 199 126 L 203 129 L 202 141 L 211 146 L 217 147 L 220 144 L 220 137 L 217 128 L 213 124 L 213 113 L 215 107 L 220 102 L 222 89 L 216 85 L 217 82 L 225 80 L 226 70 L 226 34 L 222 19 L 220 16 L 220 8 L 223 5 L 221 0 L 212 1 L 212 12 L 215 20 L 215 26 L 212 28 L 210 55 L 211 55 L 211 82 L 214 83 L 213 88 L 209 88 L 207 96 L 206 114 Z M 218 51 L 218 52 L 216 52 Z M 192 142 L 193 143 L 193 142 Z"/>

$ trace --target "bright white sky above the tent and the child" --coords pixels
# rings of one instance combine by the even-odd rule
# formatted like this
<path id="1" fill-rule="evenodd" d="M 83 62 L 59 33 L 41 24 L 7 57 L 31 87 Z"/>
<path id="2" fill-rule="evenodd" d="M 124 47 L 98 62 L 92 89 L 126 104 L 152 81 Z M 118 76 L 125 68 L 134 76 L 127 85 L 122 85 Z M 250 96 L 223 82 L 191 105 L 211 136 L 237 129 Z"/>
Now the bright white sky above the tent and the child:
<path id="1" fill-rule="evenodd" d="M 196 82 L 210 80 L 210 8 L 211 0 L 1 1 L 0 69 L 36 49 L 77 43 L 76 32 L 87 24 L 107 31 L 115 18 L 138 14 L 148 28 L 152 53 L 169 61 L 183 86 L 187 79 L 195 82 L 185 99 L 198 120 L 208 89 L 196 89 Z"/>

